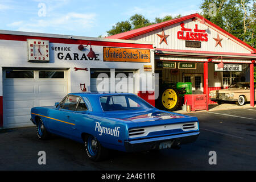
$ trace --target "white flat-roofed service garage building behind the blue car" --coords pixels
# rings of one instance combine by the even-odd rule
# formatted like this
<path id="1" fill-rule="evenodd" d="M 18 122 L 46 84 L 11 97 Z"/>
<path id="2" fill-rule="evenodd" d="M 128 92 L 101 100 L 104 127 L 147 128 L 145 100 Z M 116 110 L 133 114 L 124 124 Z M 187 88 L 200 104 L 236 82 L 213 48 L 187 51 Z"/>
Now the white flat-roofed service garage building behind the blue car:
<path id="1" fill-rule="evenodd" d="M 54 105 L 84 88 L 131 92 L 147 100 L 154 93 L 154 79 L 144 84 L 144 75 L 154 73 L 152 49 L 150 42 L 1 30 L 0 127 L 31 126 L 31 107 Z M 97 80 L 98 75 L 106 78 Z"/>

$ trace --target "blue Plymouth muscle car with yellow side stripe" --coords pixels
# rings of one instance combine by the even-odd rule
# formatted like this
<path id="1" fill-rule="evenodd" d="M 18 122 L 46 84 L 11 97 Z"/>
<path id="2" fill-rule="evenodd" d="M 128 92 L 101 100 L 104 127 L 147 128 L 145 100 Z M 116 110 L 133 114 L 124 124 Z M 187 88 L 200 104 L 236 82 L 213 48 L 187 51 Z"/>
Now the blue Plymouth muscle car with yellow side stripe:
<path id="1" fill-rule="evenodd" d="M 70 93 L 50 107 L 33 107 L 39 139 L 57 134 L 84 143 L 94 161 L 108 149 L 148 151 L 179 147 L 199 135 L 196 117 L 156 109 L 130 93 Z"/>

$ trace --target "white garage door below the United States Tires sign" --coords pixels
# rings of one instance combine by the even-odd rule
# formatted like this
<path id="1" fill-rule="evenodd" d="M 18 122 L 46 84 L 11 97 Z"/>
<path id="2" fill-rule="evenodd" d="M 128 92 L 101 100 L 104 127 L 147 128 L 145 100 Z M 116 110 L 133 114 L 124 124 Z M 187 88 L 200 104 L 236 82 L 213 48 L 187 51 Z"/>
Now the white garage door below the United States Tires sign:
<path id="1" fill-rule="evenodd" d="M 110 71 L 91 71 L 90 91 L 110 92 L 110 75 Z M 133 71 L 115 71 L 114 75 L 114 89 L 112 89 L 114 92 L 134 93 L 135 78 Z"/>

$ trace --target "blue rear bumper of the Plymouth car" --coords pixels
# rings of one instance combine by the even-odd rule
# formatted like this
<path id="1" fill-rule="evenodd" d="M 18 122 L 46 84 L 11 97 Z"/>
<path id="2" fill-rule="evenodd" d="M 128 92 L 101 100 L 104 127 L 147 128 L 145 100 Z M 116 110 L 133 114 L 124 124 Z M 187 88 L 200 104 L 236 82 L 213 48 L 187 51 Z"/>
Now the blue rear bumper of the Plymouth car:
<path id="1" fill-rule="evenodd" d="M 159 148 L 160 143 L 168 142 L 168 141 L 171 142 L 172 147 L 176 147 L 180 144 L 195 142 L 195 140 L 199 136 L 199 133 L 200 133 L 199 131 L 196 131 L 193 133 L 170 135 L 166 137 L 126 141 L 125 150 L 127 152 L 156 150 Z"/>

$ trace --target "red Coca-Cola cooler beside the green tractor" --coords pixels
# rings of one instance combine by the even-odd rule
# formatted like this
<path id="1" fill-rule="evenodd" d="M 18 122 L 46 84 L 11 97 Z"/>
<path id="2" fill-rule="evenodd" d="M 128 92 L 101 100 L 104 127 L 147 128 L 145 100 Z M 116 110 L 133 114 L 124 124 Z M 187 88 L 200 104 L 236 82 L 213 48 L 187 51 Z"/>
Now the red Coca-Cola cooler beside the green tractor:
<path id="1" fill-rule="evenodd" d="M 207 110 L 207 95 L 206 94 L 186 94 L 184 101 L 187 106 L 191 106 L 191 111 Z"/>

